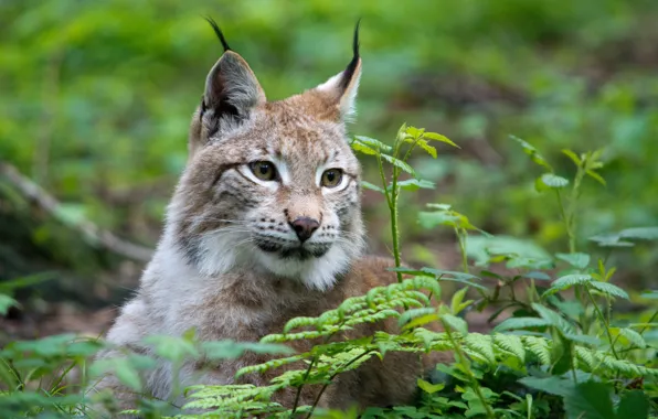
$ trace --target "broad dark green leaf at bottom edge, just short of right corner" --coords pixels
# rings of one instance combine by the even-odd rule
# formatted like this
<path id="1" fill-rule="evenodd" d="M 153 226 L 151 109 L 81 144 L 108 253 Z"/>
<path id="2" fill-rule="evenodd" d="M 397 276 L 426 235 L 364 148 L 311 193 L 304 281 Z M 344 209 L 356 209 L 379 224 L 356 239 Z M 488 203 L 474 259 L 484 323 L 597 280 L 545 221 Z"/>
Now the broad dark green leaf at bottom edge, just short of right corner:
<path id="1" fill-rule="evenodd" d="M 567 419 L 615 419 L 611 388 L 603 383 L 576 385 L 564 397 L 564 410 Z"/>

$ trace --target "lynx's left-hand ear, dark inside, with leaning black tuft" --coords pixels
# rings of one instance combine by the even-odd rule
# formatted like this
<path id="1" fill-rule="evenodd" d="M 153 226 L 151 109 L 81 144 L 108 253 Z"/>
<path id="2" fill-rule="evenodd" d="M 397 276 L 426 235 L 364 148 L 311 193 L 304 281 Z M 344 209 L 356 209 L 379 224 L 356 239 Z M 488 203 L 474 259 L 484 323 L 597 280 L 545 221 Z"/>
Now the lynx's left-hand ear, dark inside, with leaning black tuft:
<path id="1" fill-rule="evenodd" d="M 211 109 L 217 119 L 241 121 L 248 118 L 252 108 L 266 101 L 265 93 L 246 61 L 231 51 L 217 24 L 212 19 L 208 21 L 222 42 L 224 54 L 205 79 L 202 110 Z"/>

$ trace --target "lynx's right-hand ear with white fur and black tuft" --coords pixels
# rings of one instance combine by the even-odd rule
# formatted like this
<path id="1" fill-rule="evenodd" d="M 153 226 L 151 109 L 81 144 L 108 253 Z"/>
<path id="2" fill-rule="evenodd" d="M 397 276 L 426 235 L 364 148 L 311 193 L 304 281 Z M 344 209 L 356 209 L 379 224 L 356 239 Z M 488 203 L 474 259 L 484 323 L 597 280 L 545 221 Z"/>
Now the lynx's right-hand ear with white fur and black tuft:
<path id="1" fill-rule="evenodd" d="M 352 43 L 353 57 L 347 68 L 315 88 L 322 94 L 330 106 L 338 108 L 340 118 L 349 120 L 355 112 L 357 90 L 361 77 L 361 56 L 359 56 L 359 23 L 354 28 Z"/>

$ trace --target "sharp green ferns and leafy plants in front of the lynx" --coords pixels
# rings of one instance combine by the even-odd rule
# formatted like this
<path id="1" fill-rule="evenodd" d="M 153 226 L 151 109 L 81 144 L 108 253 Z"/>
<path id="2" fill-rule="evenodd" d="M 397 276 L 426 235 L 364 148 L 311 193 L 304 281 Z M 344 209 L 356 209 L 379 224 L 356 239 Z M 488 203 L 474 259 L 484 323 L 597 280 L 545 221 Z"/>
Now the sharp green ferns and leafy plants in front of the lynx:
<path id="1" fill-rule="evenodd" d="M 392 147 L 367 137 L 357 137 L 352 142 L 357 151 L 378 160 L 382 185 L 373 185 L 373 189 L 380 189 L 391 205 L 392 221 L 397 214 L 400 192 L 415 189 L 405 186 L 432 187 L 432 184 L 418 179 L 399 180 L 401 172 L 415 173 L 413 169 L 406 170 L 405 164 L 421 140 L 450 143 L 442 136 L 406 126 L 400 129 Z M 403 144 L 408 144 L 404 152 Z M 527 142 L 521 144 L 533 161 L 551 168 L 537 149 Z M 433 154 L 432 150 L 435 149 L 425 151 Z M 592 153 L 580 157 L 566 154 L 583 166 L 593 159 Z M 384 175 L 384 162 L 392 168 L 390 179 Z M 580 185 L 583 173 L 586 174 L 586 171 L 576 171 L 573 187 Z M 551 182 L 554 179 L 544 183 L 550 186 Z M 561 184 L 566 186 L 564 182 Z M 569 210 L 560 204 L 561 214 L 569 214 L 562 217 L 567 230 L 577 212 L 577 192 L 573 196 Z M 658 311 L 643 323 L 622 325 L 614 320 L 614 302 L 630 298 L 624 289 L 611 282 L 616 272 L 614 268 L 606 267 L 602 259 L 593 268 L 593 257 L 585 253 L 558 253 L 554 257 L 543 250 L 528 253 L 526 244 L 509 238 L 498 239 L 481 232 L 468 217 L 447 204 L 431 204 L 428 207 L 431 212 L 420 214 L 421 223 L 427 229 L 447 227 L 457 235 L 461 244 L 463 271 L 427 267 L 410 269 L 397 265 L 391 269 L 397 273 L 399 282 L 349 298 L 317 318 L 291 319 L 282 333 L 267 335 L 259 343 L 199 342 L 193 330 L 178 337 L 150 336 L 144 342 L 149 348 L 147 354 L 109 347 L 107 350 L 118 351 L 117 356 L 94 363 L 89 372 L 86 359 L 105 346 L 96 340 L 61 335 L 14 342 L 0 352 L 0 379 L 8 388 L 0 395 L 0 407 L 23 416 L 91 415 L 89 400 L 82 391 L 89 383 L 87 377 L 112 372 L 126 387 L 141 395 L 135 412 L 145 416 L 177 413 L 166 400 L 141 394 L 145 388 L 141 372 L 153 368 L 155 357 L 158 357 L 171 363 L 171 398 L 183 391 L 188 396 L 183 412 L 184 409 L 202 409 L 220 417 L 235 418 L 254 415 L 340 417 L 342 413 L 317 407 L 321 394 L 340 374 L 359 368 L 372 357 L 384 358 L 391 352 L 418 355 L 449 352 L 454 354 L 454 363 L 436 366 L 435 373 L 442 374 L 441 378 L 434 374 L 431 380 L 418 377 L 423 395 L 418 404 L 370 408 L 363 417 L 552 418 L 559 415 L 566 418 L 620 419 L 649 418 L 649 415 L 658 413 L 658 368 L 651 361 L 656 355 L 656 341 L 645 336 L 648 329 L 658 326 L 654 322 Z M 399 261 L 399 232 L 395 228 L 391 232 L 393 243 L 397 243 L 393 248 Z M 471 273 L 474 267 L 468 264 L 468 243 L 478 237 L 487 240 L 487 245 L 480 245 L 479 251 L 485 255 L 481 266 L 505 262 L 519 272 L 496 273 L 480 269 L 479 275 Z M 625 229 L 616 237 L 652 239 L 654 229 Z M 570 237 L 569 243 L 571 247 L 575 241 Z M 543 262 L 540 261 L 546 259 L 549 268 L 563 265 L 564 270 L 546 287 L 540 288 L 538 281 L 549 281 L 553 276 L 551 271 L 538 270 L 542 269 Z M 487 286 L 487 279 L 494 279 L 496 286 Z M 449 304 L 441 302 L 442 284 L 446 281 L 465 286 L 453 293 Z M 516 291 L 520 288 L 524 289 L 522 296 Z M 509 294 L 505 294 L 506 289 Z M 477 299 L 468 299 L 471 290 L 477 292 Z M 572 301 L 567 298 L 570 293 L 574 296 Z M 655 293 L 646 292 L 644 298 L 655 301 Z M 491 321 L 503 314 L 507 319 L 499 322 L 490 334 L 470 332 L 465 316 L 488 307 L 496 309 Z M 400 327 L 396 334 L 353 334 L 361 325 L 391 319 L 396 320 Z M 443 332 L 436 332 L 436 327 L 431 326 L 435 323 Z M 314 345 L 307 352 L 295 353 L 285 345 L 295 341 L 310 341 Z M 236 378 L 265 372 L 279 373 L 261 386 L 234 384 L 179 388 L 178 370 L 184 362 L 221 362 L 237 358 L 245 351 L 274 357 L 241 368 Z M 285 372 L 280 372 L 284 366 Z M 74 369 L 81 370 L 83 379 L 64 384 Z M 36 380 L 40 384 L 34 390 Z M 299 394 L 305 386 L 314 384 L 321 385 L 314 405 L 300 406 L 296 402 L 293 407 L 284 407 L 273 400 L 277 391 L 294 389 Z M 644 386 L 645 390 L 637 390 L 637 386 Z M 110 400 L 104 397 L 98 395 L 94 399 L 107 406 Z M 183 413 L 178 417 L 192 416 Z"/>

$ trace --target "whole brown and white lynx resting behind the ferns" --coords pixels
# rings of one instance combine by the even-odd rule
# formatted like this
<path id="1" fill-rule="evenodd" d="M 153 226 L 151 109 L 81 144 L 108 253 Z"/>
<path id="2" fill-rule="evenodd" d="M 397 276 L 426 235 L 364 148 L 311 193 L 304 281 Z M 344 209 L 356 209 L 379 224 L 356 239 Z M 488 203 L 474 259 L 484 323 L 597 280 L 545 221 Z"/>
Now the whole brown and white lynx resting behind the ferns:
<path id="1" fill-rule="evenodd" d="M 359 25 L 344 71 L 299 95 L 267 101 L 248 64 L 211 24 L 224 53 L 192 117 L 189 160 L 139 290 L 107 335 L 110 343 L 142 353 L 149 351 L 145 336 L 179 336 L 191 327 L 201 340 L 258 341 L 295 316 L 319 315 L 396 280 L 386 270 L 393 261 L 362 257 L 361 169 L 346 132 L 361 76 Z M 392 331 L 394 324 L 357 332 L 378 327 Z M 190 363 L 178 376 L 182 385 L 233 384 L 238 368 L 267 359 L 247 354 L 223 362 L 195 383 L 197 365 Z M 339 376 L 320 406 L 407 402 L 421 370 L 417 355 L 370 359 Z M 270 374 L 248 382 L 264 385 L 280 372 Z M 155 397 L 170 398 L 172 372 L 164 362 L 144 378 Z M 132 406 L 134 396 L 115 376 L 96 386 L 107 388 L 121 407 Z M 304 387 L 300 405 L 312 404 L 317 391 Z M 295 396 L 290 389 L 275 398 L 289 407 Z"/>

